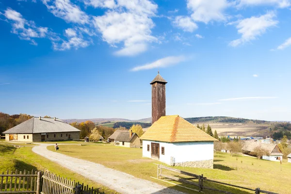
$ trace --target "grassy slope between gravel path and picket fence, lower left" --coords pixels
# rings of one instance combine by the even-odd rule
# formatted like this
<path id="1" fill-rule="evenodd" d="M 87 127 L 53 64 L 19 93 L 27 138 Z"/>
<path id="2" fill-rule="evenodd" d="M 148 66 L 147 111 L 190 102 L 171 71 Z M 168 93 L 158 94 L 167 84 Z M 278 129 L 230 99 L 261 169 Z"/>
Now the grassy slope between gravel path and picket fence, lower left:
<path id="1" fill-rule="evenodd" d="M 104 187 L 94 181 L 89 180 L 77 173 L 74 173 L 48 159 L 32 152 L 32 147 L 15 148 L 7 144 L 0 144 L 0 173 L 6 170 L 49 170 L 61 177 L 71 178 L 79 182 L 84 182 L 94 188 L 100 188 L 106 194 L 118 194 L 117 192 Z"/>

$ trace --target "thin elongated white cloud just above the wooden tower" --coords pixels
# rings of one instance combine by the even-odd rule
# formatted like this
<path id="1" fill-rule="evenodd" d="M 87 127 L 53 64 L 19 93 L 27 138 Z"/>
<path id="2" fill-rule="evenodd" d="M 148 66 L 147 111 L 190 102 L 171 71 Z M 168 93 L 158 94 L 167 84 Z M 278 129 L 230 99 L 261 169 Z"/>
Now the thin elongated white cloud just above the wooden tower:
<path id="1" fill-rule="evenodd" d="M 171 65 L 176 65 L 185 60 L 186 58 L 184 56 L 169 56 L 169 57 L 159 59 L 150 64 L 136 66 L 132 68 L 131 71 L 140 71 L 140 70 L 153 69 L 153 68 L 158 68 L 158 67 L 167 67 Z"/>

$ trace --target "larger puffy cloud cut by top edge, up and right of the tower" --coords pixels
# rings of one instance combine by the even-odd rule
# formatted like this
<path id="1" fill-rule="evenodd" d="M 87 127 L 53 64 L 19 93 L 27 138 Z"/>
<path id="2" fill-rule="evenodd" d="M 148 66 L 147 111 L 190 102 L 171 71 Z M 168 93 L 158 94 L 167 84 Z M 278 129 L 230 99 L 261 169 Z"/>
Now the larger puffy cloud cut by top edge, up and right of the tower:
<path id="1" fill-rule="evenodd" d="M 227 0 L 187 0 L 187 8 L 193 12 L 194 21 L 208 23 L 210 21 L 224 21 L 224 11 L 231 3 Z"/>

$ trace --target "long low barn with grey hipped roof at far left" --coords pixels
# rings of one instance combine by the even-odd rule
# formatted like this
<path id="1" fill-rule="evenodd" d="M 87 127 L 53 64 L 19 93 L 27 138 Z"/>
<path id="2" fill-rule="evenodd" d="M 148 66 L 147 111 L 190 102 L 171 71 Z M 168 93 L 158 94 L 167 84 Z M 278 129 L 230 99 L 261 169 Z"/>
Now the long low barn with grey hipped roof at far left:
<path id="1" fill-rule="evenodd" d="M 80 130 L 54 118 L 32 117 L 3 132 L 6 141 L 40 142 L 80 140 Z"/>

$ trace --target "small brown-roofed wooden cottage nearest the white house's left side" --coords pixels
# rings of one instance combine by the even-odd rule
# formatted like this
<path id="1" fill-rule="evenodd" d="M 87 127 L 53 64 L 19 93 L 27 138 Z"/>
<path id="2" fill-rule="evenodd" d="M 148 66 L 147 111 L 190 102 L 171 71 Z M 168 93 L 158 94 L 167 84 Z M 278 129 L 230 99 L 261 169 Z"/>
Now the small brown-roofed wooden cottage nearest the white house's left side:
<path id="1" fill-rule="evenodd" d="M 140 138 L 138 137 L 138 135 L 136 133 L 132 133 L 132 131 L 121 132 L 115 138 L 115 145 L 122 146 L 122 147 L 140 148 L 141 141 L 140 141 Z"/>

